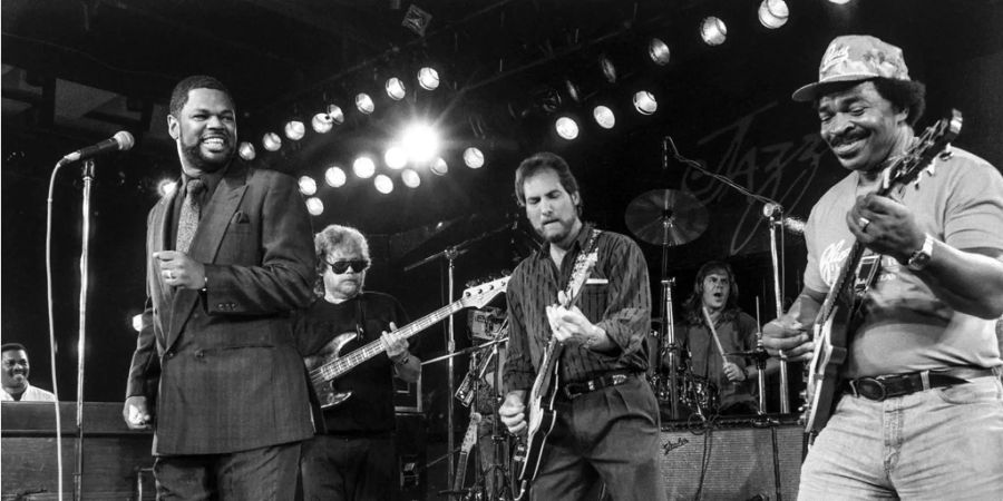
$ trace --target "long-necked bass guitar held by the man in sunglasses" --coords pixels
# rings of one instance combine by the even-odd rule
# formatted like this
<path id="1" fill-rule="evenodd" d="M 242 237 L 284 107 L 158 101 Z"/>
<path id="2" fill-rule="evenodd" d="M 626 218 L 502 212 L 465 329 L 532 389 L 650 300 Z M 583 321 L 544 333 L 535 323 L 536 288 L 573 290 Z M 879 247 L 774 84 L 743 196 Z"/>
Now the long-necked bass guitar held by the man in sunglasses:
<path id="1" fill-rule="evenodd" d="M 462 308 L 484 307 L 498 294 L 504 293 L 507 285 L 508 277 L 506 276 L 467 288 L 464 291 L 461 298 L 442 306 L 395 332 L 402 334 L 403 338 L 409 338 Z M 356 332 L 347 332 L 339 334 L 331 340 L 331 342 L 328 343 L 328 348 L 325 351 L 332 354 L 324 357 L 323 363 L 320 366 L 310 371 L 310 382 L 317 391 L 318 399 L 320 399 L 321 409 L 333 407 L 352 395 L 352 392 L 350 391 L 337 391 L 332 384 L 335 379 L 357 367 L 362 362 L 383 353 L 382 342 L 376 340 L 348 355 L 341 356 L 341 348 L 345 343 L 356 338 L 357 335 L 358 333 Z"/>

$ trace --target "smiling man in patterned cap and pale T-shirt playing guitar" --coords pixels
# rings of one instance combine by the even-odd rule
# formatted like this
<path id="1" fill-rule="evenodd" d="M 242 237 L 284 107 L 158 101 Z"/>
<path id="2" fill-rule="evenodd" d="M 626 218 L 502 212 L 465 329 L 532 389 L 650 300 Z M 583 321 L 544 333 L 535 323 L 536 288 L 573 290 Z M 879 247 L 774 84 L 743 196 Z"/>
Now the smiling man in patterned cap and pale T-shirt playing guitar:
<path id="1" fill-rule="evenodd" d="M 918 143 L 924 95 L 902 50 L 867 36 L 832 40 L 818 81 L 793 94 L 814 104 L 819 132 L 849 175 L 811 209 L 805 288 L 763 328 L 770 352 L 807 361 L 818 344 L 827 353 L 828 331 L 816 338 L 811 328 L 855 240 L 863 261 L 878 265 L 869 281 L 857 271 L 857 283 L 869 285 L 859 313 L 848 327 L 832 325 L 848 340 L 845 361 L 835 381 L 822 379 L 831 405 L 816 402 L 808 414 L 818 434 L 801 499 L 1003 492 L 1003 361 L 993 331 L 1003 313 L 1003 176 L 954 148 L 917 181 L 875 193 Z"/>

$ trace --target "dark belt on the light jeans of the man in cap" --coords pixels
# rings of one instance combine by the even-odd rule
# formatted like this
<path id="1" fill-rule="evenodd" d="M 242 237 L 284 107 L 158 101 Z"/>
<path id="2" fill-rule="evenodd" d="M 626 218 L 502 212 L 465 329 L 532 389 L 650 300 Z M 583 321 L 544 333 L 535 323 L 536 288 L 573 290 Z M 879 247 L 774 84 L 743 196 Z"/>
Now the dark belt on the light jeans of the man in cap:
<path id="1" fill-rule="evenodd" d="M 843 384 L 844 393 L 883 401 L 935 387 L 965 384 L 968 380 L 993 375 L 992 369 L 953 367 L 945 371 L 922 371 L 908 374 L 888 374 L 858 377 Z"/>

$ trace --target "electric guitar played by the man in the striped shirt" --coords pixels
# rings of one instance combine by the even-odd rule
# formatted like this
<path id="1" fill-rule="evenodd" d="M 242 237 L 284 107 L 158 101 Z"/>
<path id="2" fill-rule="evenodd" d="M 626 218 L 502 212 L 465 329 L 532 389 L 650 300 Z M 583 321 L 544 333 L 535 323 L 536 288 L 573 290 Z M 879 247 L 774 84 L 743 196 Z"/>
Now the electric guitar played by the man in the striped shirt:
<path id="1" fill-rule="evenodd" d="M 571 281 L 567 284 L 566 301 L 562 306 L 565 308 L 574 306 L 596 261 L 598 261 L 598 253 L 593 249 L 584 259 L 575 263 Z M 517 500 L 523 498 L 523 494 L 527 492 L 526 488 L 536 478 L 547 435 L 554 430 L 554 424 L 557 422 L 554 399 L 557 396 L 561 352 L 564 345 L 558 343 L 556 336 L 554 336 L 553 325 L 551 330 L 551 340 L 547 342 L 547 347 L 541 357 L 539 372 L 537 372 L 536 380 L 533 382 L 533 389 L 529 392 L 529 423 L 526 441 L 518 445 L 519 449 L 516 452 L 516 459 L 522 459 Z"/>

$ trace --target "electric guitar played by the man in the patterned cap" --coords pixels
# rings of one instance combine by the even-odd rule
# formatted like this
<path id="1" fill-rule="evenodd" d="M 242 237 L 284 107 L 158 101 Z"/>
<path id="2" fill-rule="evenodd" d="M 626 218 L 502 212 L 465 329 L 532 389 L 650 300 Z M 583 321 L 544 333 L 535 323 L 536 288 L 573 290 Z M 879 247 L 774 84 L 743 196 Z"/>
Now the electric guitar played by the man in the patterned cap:
<path id="1" fill-rule="evenodd" d="M 915 180 L 929 163 L 947 148 L 957 137 L 962 127 L 962 116 L 952 111 L 927 128 L 886 170 L 886 178 L 877 195 L 886 196 L 893 189 Z M 805 432 L 815 436 L 829 421 L 838 386 L 839 367 L 846 361 L 850 342 L 850 331 L 858 318 L 866 287 L 855 291 L 857 267 L 865 247 L 855 240 L 843 262 L 839 275 L 815 318 L 815 352 L 808 367 L 808 384 L 805 389 L 806 405 L 802 420 Z M 880 256 L 878 256 L 878 259 Z M 875 269 L 870 272 L 873 281 Z"/>

